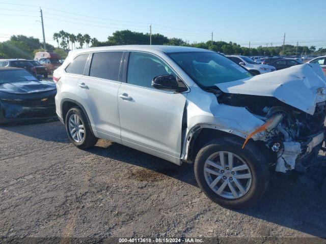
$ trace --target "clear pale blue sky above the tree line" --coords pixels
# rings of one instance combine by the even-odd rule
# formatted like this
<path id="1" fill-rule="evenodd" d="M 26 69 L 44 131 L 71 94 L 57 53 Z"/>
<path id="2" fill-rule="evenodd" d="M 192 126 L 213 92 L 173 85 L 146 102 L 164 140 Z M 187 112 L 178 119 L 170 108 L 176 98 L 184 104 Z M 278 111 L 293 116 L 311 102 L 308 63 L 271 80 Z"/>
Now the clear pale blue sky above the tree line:
<path id="1" fill-rule="evenodd" d="M 193 1 L 193 0 L 0 0 L 0 41 L 11 35 L 42 39 L 39 6 L 43 10 L 46 41 L 61 29 L 88 33 L 100 41 L 116 30 L 160 33 L 201 42 L 232 41 L 241 46 L 286 44 L 326 47 L 324 0 Z"/>

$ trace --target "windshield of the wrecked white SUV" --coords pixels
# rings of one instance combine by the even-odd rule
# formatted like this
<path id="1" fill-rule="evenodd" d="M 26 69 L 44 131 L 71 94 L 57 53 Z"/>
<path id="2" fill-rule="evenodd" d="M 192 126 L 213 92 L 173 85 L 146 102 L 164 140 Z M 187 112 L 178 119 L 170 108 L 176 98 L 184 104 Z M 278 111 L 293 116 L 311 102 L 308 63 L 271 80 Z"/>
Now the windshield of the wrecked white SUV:
<path id="1" fill-rule="evenodd" d="M 252 75 L 227 57 L 215 52 L 167 53 L 201 87 L 230 82 Z"/>

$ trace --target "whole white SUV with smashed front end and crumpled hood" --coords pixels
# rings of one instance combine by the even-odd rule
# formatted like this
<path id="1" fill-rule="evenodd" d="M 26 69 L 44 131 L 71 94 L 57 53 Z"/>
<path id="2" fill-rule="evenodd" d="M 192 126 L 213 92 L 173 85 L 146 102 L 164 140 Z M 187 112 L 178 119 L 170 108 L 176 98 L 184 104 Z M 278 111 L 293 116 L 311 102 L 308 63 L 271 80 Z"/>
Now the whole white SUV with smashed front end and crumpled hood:
<path id="1" fill-rule="evenodd" d="M 252 76 L 216 52 L 176 46 L 71 51 L 53 75 L 57 114 L 78 148 L 104 138 L 195 164 L 214 202 L 244 208 L 270 169 L 304 171 L 324 140 L 318 65 Z"/>

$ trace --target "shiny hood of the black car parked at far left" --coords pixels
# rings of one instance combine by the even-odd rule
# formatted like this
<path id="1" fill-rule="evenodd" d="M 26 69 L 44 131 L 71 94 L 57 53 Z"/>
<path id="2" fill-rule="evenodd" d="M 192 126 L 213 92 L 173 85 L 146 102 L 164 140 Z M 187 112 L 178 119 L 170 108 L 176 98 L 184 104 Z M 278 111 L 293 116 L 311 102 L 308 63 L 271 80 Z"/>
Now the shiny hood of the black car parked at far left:
<path id="1" fill-rule="evenodd" d="M 0 85 L 0 92 L 13 94 L 42 93 L 56 89 L 56 84 L 50 81 L 17 81 Z"/>

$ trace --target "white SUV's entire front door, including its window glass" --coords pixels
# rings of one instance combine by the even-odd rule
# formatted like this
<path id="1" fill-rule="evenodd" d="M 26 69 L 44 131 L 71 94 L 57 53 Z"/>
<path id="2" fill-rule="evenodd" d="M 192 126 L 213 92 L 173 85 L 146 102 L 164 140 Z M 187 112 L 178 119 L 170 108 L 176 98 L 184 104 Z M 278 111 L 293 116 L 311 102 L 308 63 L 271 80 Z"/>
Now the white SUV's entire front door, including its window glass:
<path id="1" fill-rule="evenodd" d="M 130 52 L 125 74 L 118 93 L 122 143 L 178 164 L 186 94 L 151 86 L 155 76 L 176 74 L 161 58 L 144 52 Z"/>

